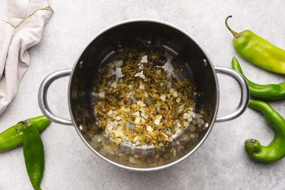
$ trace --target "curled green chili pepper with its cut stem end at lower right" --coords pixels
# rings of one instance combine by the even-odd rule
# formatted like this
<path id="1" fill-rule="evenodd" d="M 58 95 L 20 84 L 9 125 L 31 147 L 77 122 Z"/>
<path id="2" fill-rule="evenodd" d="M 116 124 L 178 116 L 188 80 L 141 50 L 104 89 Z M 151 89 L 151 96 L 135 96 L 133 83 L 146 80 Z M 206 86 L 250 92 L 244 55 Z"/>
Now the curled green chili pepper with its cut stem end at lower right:
<path id="1" fill-rule="evenodd" d="M 275 136 L 268 146 L 262 146 L 255 139 L 245 141 L 247 154 L 262 162 L 275 162 L 285 156 L 285 119 L 270 105 L 258 100 L 249 100 L 249 107 L 261 111 L 266 121 L 274 128 Z"/>

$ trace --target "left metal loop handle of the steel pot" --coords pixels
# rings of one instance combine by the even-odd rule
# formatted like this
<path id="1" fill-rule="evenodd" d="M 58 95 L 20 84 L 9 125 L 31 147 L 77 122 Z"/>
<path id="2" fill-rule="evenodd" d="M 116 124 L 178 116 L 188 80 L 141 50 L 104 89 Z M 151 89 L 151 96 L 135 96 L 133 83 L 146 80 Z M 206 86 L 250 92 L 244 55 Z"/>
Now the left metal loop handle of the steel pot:
<path id="1" fill-rule="evenodd" d="M 42 111 L 42 113 L 51 121 L 65 125 L 73 125 L 72 120 L 62 119 L 53 115 L 53 113 L 50 111 L 50 108 L 48 107 L 46 95 L 48 92 L 48 87 L 50 87 L 53 81 L 62 77 L 69 76 L 71 71 L 72 69 L 66 69 L 51 73 L 42 81 L 38 92 L 38 105 L 40 106 L 40 110 Z"/>

